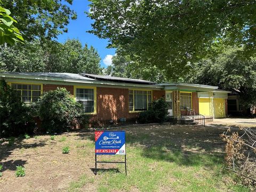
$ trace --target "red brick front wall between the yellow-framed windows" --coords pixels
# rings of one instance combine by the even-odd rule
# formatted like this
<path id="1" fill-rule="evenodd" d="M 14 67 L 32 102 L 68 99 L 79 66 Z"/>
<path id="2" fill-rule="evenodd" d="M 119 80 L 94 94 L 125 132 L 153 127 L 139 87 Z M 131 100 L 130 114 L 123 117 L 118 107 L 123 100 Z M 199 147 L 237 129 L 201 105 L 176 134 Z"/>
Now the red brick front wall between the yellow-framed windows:
<path id="1" fill-rule="evenodd" d="M 74 94 L 73 85 L 44 84 L 43 91 L 55 90 L 57 87 L 65 87 Z M 165 96 L 165 91 L 153 90 L 153 100 Z M 94 125 L 119 122 L 120 118 L 135 122 L 139 113 L 129 113 L 129 89 L 97 87 L 97 114 L 91 115 L 90 121 Z"/>

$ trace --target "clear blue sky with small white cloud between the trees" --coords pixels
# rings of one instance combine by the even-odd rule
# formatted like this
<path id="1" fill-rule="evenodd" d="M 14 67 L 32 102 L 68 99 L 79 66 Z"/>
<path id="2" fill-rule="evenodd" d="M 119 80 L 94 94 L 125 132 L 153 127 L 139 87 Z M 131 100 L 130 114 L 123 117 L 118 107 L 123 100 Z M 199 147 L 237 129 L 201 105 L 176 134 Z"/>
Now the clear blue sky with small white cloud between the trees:
<path id="1" fill-rule="evenodd" d="M 86 17 L 84 11 L 89 11 L 90 2 L 87 0 L 74 0 L 73 4 L 70 6 L 72 10 L 77 13 L 76 20 L 70 20 L 68 24 L 68 33 L 63 33 L 58 36 L 58 42 L 65 42 L 68 38 L 79 39 L 83 46 L 87 43 L 89 46 L 93 46 L 97 49 L 101 57 L 101 67 L 107 67 L 111 65 L 112 57 L 115 54 L 115 49 L 107 49 L 108 45 L 107 39 L 100 39 L 97 36 L 87 33 L 87 30 L 91 30 L 91 23 L 93 20 Z"/>

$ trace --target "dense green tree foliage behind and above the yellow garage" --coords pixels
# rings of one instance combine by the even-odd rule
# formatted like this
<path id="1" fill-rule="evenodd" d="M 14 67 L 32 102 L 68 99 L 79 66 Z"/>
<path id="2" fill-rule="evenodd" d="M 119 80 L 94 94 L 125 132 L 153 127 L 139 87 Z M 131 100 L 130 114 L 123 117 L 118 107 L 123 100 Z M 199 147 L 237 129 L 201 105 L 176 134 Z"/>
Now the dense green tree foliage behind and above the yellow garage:
<path id="1" fill-rule="evenodd" d="M 256 105 L 256 58 L 243 58 L 243 48 L 222 47 L 214 59 L 195 63 L 190 83 L 216 85 L 236 92 L 244 107 Z"/>

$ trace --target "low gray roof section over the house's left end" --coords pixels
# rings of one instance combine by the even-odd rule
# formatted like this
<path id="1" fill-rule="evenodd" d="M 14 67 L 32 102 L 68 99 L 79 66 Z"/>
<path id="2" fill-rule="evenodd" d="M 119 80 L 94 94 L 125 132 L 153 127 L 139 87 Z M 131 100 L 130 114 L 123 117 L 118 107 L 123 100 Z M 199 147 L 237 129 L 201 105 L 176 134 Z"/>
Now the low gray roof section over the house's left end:
<path id="1" fill-rule="evenodd" d="M 88 78 L 80 74 L 71 74 L 71 73 L 18 73 L 18 72 L 8 72 L 2 74 L 13 74 L 13 75 L 24 75 L 24 76 L 37 76 L 37 77 L 52 77 L 52 78 L 67 78 L 67 79 L 79 79 L 79 80 L 89 80 L 96 81 L 93 78 Z"/>

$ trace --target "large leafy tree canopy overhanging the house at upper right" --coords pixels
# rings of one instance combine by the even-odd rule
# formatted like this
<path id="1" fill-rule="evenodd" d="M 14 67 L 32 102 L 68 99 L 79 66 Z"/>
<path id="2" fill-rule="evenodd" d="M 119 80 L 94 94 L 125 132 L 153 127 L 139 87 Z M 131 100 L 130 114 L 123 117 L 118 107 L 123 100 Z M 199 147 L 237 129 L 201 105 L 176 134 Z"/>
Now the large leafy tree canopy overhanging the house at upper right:
<path id="1" fill-rule="evenodd" d="M 256 1 L 91 0 L 90 33 L 109 39 L 139 65 L 165 69 L 169 77 L 188 73 L 190 62 L 213 54 L 218 43 L 244 45 L 255 54 Z M 174 76 L 173 76 L 174 75 Z"/>

